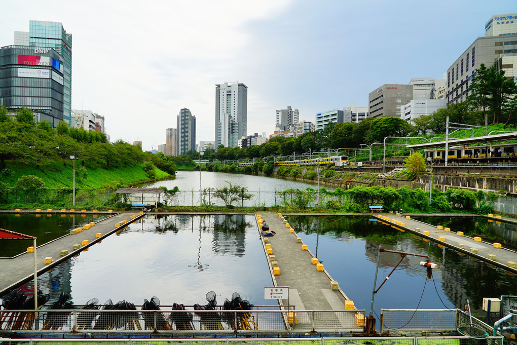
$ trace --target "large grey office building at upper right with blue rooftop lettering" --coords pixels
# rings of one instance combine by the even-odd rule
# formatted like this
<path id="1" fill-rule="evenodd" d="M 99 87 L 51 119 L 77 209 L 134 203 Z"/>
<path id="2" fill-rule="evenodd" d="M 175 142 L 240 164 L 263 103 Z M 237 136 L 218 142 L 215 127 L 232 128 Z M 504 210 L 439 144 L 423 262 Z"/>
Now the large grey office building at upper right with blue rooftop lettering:
<path id="1" fill-rule="evenodd" d="M 517 13 L 496 14 L 485 23 L 485 36 L 478 37 L 447 69 L 447 104 L 460 103 L 472 94 L 472 77 L 481 64 L 517 76 Z"/>

